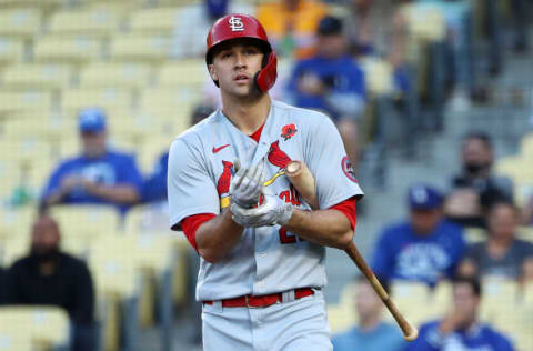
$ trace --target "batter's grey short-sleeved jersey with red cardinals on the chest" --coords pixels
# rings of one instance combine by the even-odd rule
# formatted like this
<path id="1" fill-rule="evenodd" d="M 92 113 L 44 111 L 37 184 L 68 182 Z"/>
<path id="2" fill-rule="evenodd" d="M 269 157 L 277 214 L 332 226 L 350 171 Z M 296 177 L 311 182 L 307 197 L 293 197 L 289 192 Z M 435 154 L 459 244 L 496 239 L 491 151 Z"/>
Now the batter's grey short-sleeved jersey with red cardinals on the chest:
<path id="1" fill-rule="evenodd" d="M 220 109 L 172 142 L 168 174 L 170 225 L 193 214 L 219 214 L 229 203 L 233 161 L 239 159 L 242 167 L 250 167 L 263 158 L 269 191 L 299 209 L 310 207 L 284 176 L 291 160 L 303 161 L 314 176 L 321 209 L 363 195 L 333 122 L 322 113 L 274 100 L 259 143 L 233 126 Z M 201 259 L 197 299 L 321 288 L 326 283 L 324 259 L 324 247 L 280 225 L 247 228 L 224 260 L 209 263 Z"/>

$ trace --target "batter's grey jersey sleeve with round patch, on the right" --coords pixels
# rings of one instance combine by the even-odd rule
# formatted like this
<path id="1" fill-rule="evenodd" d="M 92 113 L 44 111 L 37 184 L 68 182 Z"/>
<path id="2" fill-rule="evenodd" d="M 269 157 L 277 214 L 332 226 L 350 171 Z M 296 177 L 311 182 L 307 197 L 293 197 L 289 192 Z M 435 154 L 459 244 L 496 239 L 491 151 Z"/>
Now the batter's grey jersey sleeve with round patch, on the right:
<path id="1" fill-rule="evenodd" d="M 306 136 L 304 159 L 315 179 L 321 209 L 363 197 L 335 124 L 325 118 Z"/>

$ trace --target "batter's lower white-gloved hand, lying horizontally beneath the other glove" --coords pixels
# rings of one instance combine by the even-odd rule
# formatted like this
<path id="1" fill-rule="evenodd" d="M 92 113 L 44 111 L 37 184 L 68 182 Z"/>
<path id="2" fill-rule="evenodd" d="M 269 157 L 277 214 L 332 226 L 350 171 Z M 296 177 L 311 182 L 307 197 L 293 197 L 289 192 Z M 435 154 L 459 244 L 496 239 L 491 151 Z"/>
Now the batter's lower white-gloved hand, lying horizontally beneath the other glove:
<path id="1" fill-rule="evenodd" d="M 231 204 L 232 219 L 244 228 L 264 225 L 285 225 L 292 217 L 293 207 L 274 194 L 263 194 L 264 201 L 253 209 L 245 209 L 237 203 Z"/>

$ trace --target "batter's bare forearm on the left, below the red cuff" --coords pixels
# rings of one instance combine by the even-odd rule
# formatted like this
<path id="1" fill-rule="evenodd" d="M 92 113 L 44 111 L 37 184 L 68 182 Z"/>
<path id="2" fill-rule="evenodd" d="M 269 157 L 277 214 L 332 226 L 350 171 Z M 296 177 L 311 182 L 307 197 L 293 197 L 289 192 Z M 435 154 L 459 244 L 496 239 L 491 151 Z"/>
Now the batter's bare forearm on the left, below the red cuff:
<path id="1" fill-rule="evenodd" d="M 205 261 L 217 263 L 239 243 L 242 231 L 243 228 L 233 222 L 231 212 L 225 209 L 198 228 L 194 237 L 198 252 Z"/>

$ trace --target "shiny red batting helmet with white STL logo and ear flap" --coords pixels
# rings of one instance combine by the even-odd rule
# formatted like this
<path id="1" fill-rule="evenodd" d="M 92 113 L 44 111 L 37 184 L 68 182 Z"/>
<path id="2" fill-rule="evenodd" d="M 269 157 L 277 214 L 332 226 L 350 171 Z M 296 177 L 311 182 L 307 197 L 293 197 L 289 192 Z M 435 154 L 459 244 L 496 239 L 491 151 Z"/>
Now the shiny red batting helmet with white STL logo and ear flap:
<path id="1" fill-rule="evenodd" d="M 208 33 L 208 51 L 205 62 L 213 62 L 213 49 L 228 40 L 249 38 L 258 41 L 264 52 L 263 68 L 254 77 L 255 87 L 266 92 L 274 86 L 278 78 L 278 58 L 269 42 L 266 32 L 261 23 L 249 14 L 230 13 L 217 20 Z M 217 87 L 218 81 L 214 81 Z"/>

